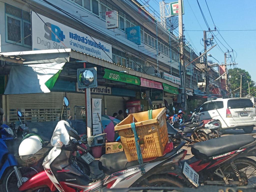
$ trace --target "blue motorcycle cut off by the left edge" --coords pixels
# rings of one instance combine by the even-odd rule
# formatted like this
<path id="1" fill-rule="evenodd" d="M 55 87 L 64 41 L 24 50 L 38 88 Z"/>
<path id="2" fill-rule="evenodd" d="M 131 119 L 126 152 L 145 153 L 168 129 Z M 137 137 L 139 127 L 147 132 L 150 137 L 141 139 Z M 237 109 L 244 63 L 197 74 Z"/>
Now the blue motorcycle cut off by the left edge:
<path id="1" fill-rule="evenodd" d="M 15 143 L 19 131 L 22 132 L 22 136 L 25 136 L 28 133 L 28 127 L 21 123 L 18 127 L 11 129 L 8 125 L 1 124 L 3 115 L 4 112 L 0 108 L 0 192 L 18 192 L 19 186 L 38 172 L 32 167 L 20 167 L 14 154 L 9 152 L 6 145 L 7 141 Z M 17 115 L 20 118 L 22 113 L 18 111 Z M 12 151 L 16 148 L 13 146 Z"/>

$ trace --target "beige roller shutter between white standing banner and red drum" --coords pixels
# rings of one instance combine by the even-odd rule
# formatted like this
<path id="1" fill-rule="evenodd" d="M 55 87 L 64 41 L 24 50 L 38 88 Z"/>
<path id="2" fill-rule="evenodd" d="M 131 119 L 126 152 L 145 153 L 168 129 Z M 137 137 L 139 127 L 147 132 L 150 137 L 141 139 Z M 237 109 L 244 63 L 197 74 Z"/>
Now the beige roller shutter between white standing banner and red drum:
<path id="1" fill-rule="evenodd" d="M 129 97 L 118 97 L 118 96 L 105 96 L 107 102 L 107 114 L 112 116 L 113 113 L 118 113 L 119 110 L 123 111 L 125 116 L 125 102 L 129 100 Z"/>

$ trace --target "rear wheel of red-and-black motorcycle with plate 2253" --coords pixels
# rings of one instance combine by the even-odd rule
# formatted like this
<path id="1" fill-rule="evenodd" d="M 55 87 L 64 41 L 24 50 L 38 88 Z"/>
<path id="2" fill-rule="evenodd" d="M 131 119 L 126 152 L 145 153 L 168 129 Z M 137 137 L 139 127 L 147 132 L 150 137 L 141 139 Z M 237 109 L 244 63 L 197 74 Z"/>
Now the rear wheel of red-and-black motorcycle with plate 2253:
<path id="1" fill-rule="evenodd" d="M 234 160 L 234 164 L 237 167 L 237 170 L 240 174 L 242 181 L 245 183 L 244 185 L 234 185 L 234 186 L 256 186 L 256 162 L 253 159 L 248 157 L 238 158 Z M 237 181 L 238 178 L 236 174 L 233 172 L 230 164 L 226 164 L 223 169 L 224 174 L 230 174 L 227 178 L 229 181 Z M 233 186 L 233 185 L 230 185 Z"/>

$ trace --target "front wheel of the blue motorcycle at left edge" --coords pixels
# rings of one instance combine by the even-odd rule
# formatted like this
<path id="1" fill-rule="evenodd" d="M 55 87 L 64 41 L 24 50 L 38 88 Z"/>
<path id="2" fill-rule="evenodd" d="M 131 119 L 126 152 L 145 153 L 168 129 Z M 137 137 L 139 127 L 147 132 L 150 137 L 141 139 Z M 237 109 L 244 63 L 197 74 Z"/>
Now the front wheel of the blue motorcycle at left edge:
<path id="1" fill-rule="evenodd" d="M 36 175 L 38 172 L 32 167 L 19 167 L 20 174 L 22 175 L 23 182 L 27 181 L 32 176 Z M 10 168 L 3 176 L 3 182 L 0 186 L 0 192 L 18 192 L 19 183 L 17 176 L 13 168 Z M 42 189 L 37 189 L 33 192 L 42 192 Z"/>

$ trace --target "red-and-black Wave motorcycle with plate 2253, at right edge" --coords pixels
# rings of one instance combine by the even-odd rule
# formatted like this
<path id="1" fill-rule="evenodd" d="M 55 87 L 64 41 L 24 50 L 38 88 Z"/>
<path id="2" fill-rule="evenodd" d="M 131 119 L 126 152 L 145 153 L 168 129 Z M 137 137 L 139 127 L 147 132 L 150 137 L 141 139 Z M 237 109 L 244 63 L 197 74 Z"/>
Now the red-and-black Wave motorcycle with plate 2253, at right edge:
<path id="1" fill-rule="evenodd" d="M 186 129 L 184 132 L 192 133 Z M 184 137 L 172 126 L 168 134 L 182 140 Z M 186 186 L 200 185 L 245 186 L 256 185 L 256 162 L 248 158 L 255 156 L 256 140 L 249 135 L 229 135 L 205 142 L 195 143 L 191 147 L 194 155 L 187 160 L 179 161 L 176 177 L 185 175 L 189 182 Z"/>

